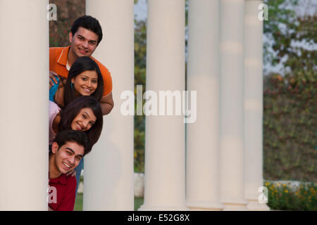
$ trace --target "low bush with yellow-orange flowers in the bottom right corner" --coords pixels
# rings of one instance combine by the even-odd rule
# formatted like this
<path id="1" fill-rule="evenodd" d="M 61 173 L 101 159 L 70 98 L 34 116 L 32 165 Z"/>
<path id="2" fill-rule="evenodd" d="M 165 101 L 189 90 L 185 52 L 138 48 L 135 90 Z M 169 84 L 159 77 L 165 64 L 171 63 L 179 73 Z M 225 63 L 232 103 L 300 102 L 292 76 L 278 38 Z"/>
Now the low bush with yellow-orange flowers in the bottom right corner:
<path id="1" fill-rule="evenodd" d="M 309 182 L 294 188 L 287 184 L 266 181 L 268 206 L 271 210 L 317 210 L 316 184 Z"/>

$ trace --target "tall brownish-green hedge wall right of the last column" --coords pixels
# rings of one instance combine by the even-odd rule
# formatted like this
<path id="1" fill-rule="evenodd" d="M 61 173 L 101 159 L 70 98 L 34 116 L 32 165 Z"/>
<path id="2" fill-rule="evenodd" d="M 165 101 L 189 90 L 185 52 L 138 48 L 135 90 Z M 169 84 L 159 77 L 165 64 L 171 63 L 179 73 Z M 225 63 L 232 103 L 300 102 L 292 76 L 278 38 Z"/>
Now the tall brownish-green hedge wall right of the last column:
<path id="1" fill-rule="evenodd" d="M 316 181 L 316 82 L 264 79 L 264 177 Z"/>

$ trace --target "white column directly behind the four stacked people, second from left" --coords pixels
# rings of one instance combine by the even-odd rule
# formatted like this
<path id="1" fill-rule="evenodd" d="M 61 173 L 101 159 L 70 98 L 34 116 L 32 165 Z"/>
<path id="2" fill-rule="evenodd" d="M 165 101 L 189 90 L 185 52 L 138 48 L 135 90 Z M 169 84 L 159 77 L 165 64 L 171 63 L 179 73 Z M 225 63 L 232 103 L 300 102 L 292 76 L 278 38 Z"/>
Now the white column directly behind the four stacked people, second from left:
<path id="1" fill-rule="evenodd" d="M 111 72 L 113 101 L 101 137 L 85 156 L 84 210 L 134 210 L 133 116 L 120 113 L 123 91 L 134 92 L 132 0 L 87 0 L 87 15 L 99 20 L 104 37 L 94 57 Z"/>

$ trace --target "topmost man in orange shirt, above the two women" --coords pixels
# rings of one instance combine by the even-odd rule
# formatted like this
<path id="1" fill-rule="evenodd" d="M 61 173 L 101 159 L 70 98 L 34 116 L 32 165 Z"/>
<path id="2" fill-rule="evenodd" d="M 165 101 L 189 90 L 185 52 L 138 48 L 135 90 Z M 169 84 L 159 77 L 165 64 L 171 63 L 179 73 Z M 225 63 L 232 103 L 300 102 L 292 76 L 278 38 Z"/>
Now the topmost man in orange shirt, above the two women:
<path id="1" fill-rule="evenodd" d="M 102 30 L 99 21 L 92 16 L 84 15 L 77 18 L 71 27 L 69 33 L 70 46 L 56 47 L 49 49 L 49 77 L 51 78 L 50 88 L 58 83 L 54 76 L 68 77 L 68 70 L 75 60 L 82 56 L 92 58 L 104 77 L 104 96 L 101 98 L 100 105 L 102 114 L 106 115 L 113 108 L 112 98 L 112 79 L 108 69 L 92 57 L 102 39 Z"/>

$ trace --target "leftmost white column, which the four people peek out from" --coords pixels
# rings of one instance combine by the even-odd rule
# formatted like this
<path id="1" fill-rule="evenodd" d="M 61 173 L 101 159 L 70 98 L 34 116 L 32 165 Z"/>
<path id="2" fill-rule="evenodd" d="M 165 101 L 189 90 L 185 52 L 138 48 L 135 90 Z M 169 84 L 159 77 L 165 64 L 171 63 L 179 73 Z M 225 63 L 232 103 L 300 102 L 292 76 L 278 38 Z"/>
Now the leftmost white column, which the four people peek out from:
<path id="1" fill-rule="evenodd" d="M 0 0 L 0 210 L 47 210 L 49 1 Z"/>

